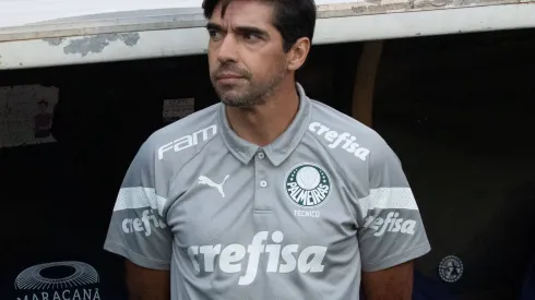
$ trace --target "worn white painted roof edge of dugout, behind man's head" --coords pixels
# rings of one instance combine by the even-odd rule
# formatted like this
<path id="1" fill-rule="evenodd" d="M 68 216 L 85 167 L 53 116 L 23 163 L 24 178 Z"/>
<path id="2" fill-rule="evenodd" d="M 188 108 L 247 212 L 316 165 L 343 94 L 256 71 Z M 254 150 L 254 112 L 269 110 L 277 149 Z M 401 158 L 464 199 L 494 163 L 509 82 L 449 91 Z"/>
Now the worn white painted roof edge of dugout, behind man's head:
<path id="1" fill-rule="evenodd" d="M 535 27 L 534 15 L 535 5 L 510 4 L 320 19 L 314 44 L 527 28 Z M 135 45 L 116 39 L 86 55 L 68 48 L 84 46 L 80 43 L 84 39 L 69 37 L 58 45 L 41 39 L 0 43 L 0 70 L 200 55 L 206 51 L 207 34 L 202 27 L 140 32 Z"/>

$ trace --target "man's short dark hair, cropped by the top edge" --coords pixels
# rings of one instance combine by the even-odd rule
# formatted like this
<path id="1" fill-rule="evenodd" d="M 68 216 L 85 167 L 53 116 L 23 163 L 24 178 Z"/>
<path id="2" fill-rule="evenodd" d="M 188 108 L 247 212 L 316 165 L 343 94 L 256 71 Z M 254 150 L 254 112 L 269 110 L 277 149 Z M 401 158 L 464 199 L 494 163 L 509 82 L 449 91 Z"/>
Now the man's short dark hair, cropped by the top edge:
<path id="1" fill-rule="evenodd" d="M 215 7 L 222 4 L 222 16 L 233 0 L 204 0 L 204 17 L 211 19 Z M 316 27 L 316 3 L 313 0 L 257 0 L 274 5 L 273 26 L 283 36 L 283 50 L 287 52 L 301 37 L 312 41 Z"/>

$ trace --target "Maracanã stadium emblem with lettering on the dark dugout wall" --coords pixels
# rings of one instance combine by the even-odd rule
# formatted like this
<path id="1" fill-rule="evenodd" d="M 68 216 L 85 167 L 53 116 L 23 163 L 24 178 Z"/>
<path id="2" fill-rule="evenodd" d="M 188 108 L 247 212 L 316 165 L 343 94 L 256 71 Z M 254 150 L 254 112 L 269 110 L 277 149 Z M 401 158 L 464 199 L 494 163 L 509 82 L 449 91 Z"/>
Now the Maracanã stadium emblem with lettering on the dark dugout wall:
<path id="1" fill-rule="evenodd" d="M 82 262 L 39 264 L 15 279 L 16 300 L 102 300 L 98 273 Z"/>

